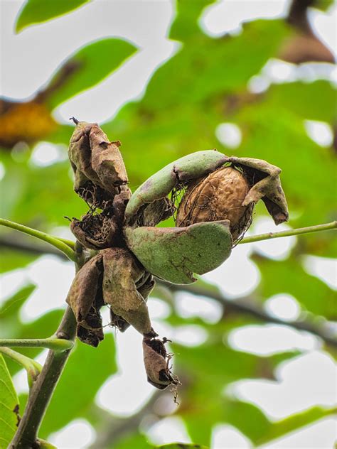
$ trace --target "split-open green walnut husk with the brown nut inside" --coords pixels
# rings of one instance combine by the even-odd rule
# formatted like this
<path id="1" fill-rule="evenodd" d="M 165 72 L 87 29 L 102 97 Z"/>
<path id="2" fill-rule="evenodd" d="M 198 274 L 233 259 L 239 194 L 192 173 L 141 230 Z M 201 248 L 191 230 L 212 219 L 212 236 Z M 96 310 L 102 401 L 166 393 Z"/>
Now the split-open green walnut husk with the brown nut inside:
<path id="1" fill-rule="evenodd" d="M 124 235 L 129 249 L 152 274 L 172 283 L 196 281 L 228 259 L 262 199 L 274 222 L 288 220 L 281 170 L 252 158 L 198 151 L 152 175 L 130 198 Z M 175 228 L 156 228 L 173 214 L 168 195 L 186 190 Z"/>

